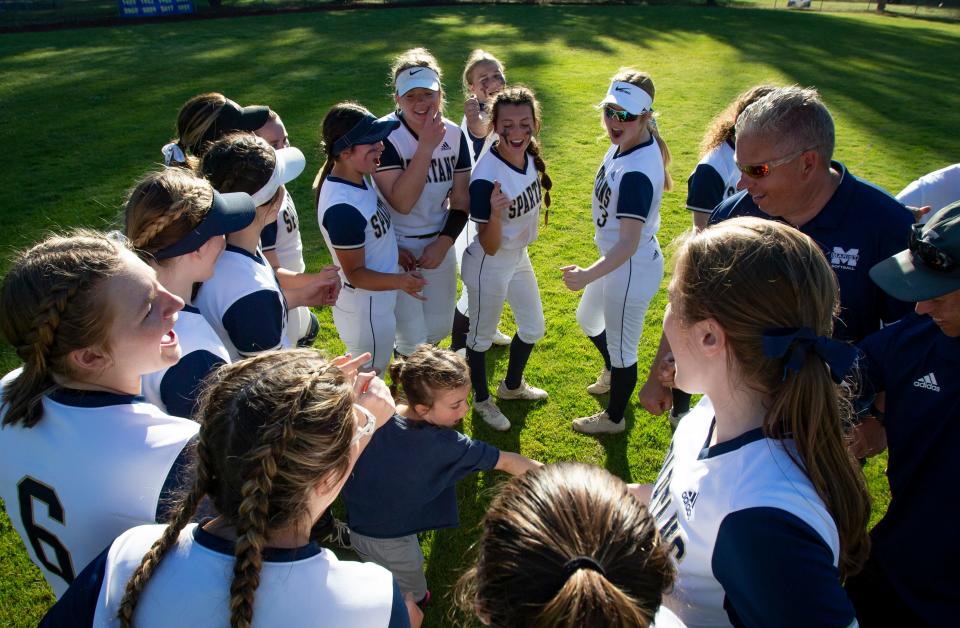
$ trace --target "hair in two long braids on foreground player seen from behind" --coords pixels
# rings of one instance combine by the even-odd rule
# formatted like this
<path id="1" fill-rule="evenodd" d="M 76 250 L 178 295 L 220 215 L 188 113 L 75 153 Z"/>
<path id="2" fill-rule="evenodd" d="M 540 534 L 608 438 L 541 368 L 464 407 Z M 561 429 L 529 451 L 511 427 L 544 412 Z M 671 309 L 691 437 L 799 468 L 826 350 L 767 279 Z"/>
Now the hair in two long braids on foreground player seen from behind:
<path id="1" fill-rule="evenodd" d="M 127 583 L 124 626 L 203 495 L 236 530 L 230 624 L 250 626 L 270 529 L 302 517 L 317 484 L 338 482 L 349 469 L 352 385 L 313 350 L 265 352 L 220 368 L 197 418 L 196 483 Z"/>

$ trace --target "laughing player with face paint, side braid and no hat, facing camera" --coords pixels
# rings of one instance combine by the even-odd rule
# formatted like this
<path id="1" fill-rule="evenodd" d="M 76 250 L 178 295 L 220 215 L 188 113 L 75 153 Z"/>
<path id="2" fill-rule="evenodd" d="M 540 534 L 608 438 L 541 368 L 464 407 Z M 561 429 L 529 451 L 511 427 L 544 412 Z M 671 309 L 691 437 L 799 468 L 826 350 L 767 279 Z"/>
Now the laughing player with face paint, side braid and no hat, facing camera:
<path id="1" fill-rule="evenodd" d="M 533 92 L 525 87 L 500 92 L 491 119 L 499 139 L 480 158 L 470 177 L 470 219 L 477 223 L 477 236 L 463 254 L 461 276 L 470 313 L 467 362 L 473 409 L 494 429 L 508 430 L 510 421 L 493 403 L 487 388 L 486 351 L 508 301 L 517 320 L 517 333 L 510 343 L 507 375 L 497 396 L 547 398 L 546 391 L 524 381 L 523 371 L 545 327 L 527 245 L 537 238 L 540 205 L 550 206 L 553 183 L 534 138 L 540 130 L 540 105 Z"/>

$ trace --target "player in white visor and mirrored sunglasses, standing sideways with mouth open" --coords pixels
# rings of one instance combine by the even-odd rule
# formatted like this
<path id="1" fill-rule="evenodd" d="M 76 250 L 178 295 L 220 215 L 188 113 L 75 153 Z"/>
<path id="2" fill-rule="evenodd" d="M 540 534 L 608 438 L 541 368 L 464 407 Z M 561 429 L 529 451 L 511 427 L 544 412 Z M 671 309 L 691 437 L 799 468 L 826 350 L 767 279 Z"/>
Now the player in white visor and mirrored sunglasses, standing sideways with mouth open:
<path id="1" fill-rule="evenodd" d="M 613 144 L 593 185 L 594 242 L 600 258 L 587 268 L 564 266 L 563 281 L 583 290 L 577 322 L 603 357 L 592 394 L 610 392 L 606 410 L 573 421 L 586 434 L 619 433 L 637 385 L 637 345 L 643 318 L 663 279 L 657 242 L 660 199 L 670 189 L 670 151 L 653 121 L 653 80 L 620 70 L 600 103 Z"/>

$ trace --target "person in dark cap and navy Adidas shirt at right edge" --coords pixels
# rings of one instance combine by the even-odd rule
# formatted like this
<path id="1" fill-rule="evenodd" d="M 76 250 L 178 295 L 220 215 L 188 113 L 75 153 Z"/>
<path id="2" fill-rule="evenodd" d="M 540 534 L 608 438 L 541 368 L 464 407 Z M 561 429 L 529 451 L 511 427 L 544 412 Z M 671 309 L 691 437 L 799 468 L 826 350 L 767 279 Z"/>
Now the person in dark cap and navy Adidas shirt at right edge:
<path id="1" fill-rule="evenodd" d="M 886 395 L 890 506 L 847 590 L 860 625 L 960 618 L 960 203 L 916 225 L 909 248 L 870 270 L 916 313 L 860 343 L 864 395 Z"/>

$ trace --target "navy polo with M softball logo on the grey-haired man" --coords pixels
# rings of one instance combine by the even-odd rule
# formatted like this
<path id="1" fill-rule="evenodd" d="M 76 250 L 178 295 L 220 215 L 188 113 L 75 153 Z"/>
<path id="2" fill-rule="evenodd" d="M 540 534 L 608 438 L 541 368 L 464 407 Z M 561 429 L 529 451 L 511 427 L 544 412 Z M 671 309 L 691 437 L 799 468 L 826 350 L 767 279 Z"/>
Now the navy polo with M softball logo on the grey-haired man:
<path id="1" fill-rule="evenodd" d="M 800 227 L 820 245 L 840 285 L 840 316 L 833 335 L 857 342 L 913 309 L 894 299 L 867 274 L 877 262 L 907 248 L 913 215 L 895 198 L 858 179 L 840 162 L 831 162 L 840 185 L 813 220 Z M 711 225 L 727 218 L 755 216 L 779 220 L 758 208 L 746 190 L 721 202 L 710 215 Z"/>

